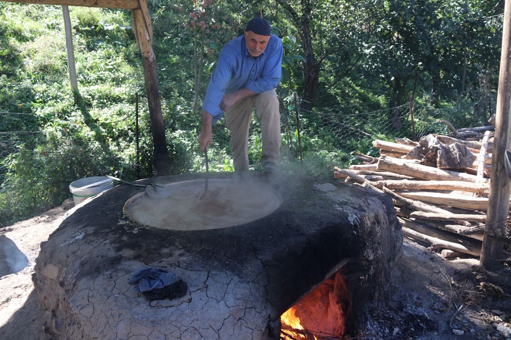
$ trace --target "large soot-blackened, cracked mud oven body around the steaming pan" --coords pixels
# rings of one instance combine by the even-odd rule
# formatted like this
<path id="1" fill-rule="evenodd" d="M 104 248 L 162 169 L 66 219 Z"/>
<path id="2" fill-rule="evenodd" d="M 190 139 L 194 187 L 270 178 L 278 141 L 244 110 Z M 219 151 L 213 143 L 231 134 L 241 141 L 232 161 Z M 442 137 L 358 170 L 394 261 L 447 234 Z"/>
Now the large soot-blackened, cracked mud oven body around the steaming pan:
<path id="1" fill-rule="evenodd" d="M 258 173 L 245 176 L 264 181 Z M 283 200 L 277 210 L 224 229 L 137 224 L 123 205 L 140 190 L 127 185 L 77 208 L 42 244 L 37 259 L 34 283 L 46 311 L 45 330 L 56 338 L 83 339 L 277 337 L 272 327 L 280 315 L 342 266 L 354 306 L 347 327 L 355 332 L 384 302 L 385 282 L 400 253 L 391 200 L 313 178 L 283 177 L 272 185 Z M 187 293 L 152 302 L 138 296 L 128 280 L 143 265 L 178 275 Z"/>

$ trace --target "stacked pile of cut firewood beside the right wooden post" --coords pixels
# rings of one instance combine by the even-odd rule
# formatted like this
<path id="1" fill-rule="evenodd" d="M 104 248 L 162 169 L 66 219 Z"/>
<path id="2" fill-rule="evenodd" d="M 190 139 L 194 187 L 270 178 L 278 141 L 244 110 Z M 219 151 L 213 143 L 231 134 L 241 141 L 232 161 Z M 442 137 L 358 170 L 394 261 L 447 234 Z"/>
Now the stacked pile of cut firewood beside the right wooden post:
<path id="1" fill-rule="evenodd" d="M 354 152 L 360 164 L 335 167 L 334 177 L 390 195 L 404 235 L 445 257 L 479 257 L 494 127 L 451 129 L 419 142 L 374 140 L 380 157 Z"/>

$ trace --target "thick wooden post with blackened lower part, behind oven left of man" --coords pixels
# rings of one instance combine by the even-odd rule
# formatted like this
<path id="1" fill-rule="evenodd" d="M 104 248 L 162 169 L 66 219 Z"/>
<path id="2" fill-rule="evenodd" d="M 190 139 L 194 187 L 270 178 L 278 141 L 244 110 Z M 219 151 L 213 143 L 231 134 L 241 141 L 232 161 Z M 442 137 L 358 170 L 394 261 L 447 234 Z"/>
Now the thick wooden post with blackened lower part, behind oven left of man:
<path id="1" fill-rule="evenodd" d="M 169 152 L 165 136 L 165 124 L 161 113 L 161 99 L 156 77 L 156 57 L 152 45 L 152 26 L 147 0 L 140 0 L 141 8 L 131 11 L 133 32 L 144 63 L 144 79 L 146 82 L 147 102 L 151 118 L 151 132 L 154 145 L 154 176 L 170 174 Z"/>

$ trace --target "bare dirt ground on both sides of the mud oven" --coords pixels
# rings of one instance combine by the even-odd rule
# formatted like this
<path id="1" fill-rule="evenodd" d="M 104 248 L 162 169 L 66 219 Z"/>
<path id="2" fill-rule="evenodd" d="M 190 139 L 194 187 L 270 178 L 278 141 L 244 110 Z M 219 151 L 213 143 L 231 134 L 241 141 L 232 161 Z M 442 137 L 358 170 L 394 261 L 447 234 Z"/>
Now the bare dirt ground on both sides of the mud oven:
<path id="1" fill-rule="evenodd" d="M 42 241 L 73 201 L 0 229 L 0 339 L 49 339 L 32 274 Z M 370 315 L 359 339 L 510 339 L 511 270 L 482 270 L 478 259 L 446 260 L 406 239 L 389 282 L 388 308 Z"/>

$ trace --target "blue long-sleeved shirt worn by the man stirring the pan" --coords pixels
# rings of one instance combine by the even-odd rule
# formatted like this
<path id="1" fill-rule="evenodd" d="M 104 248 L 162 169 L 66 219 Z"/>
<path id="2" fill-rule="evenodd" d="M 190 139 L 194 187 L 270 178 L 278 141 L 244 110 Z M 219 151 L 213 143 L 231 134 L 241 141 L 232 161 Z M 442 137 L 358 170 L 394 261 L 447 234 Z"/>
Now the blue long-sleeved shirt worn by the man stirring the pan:
<path id="1" fill-rule="evenodd" d="M 219 106 L 225 94 L 243 88 L 261 93 L 277 87 L 283 51 L 282 41 L 275 35 L 270 36 L 264 52 L 257 58 L 248 53 L 244 35 L 222 48 L 202 103 L 202 108 L 213 116 L 213 123 L 222 117 Z"/>

